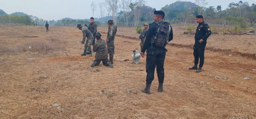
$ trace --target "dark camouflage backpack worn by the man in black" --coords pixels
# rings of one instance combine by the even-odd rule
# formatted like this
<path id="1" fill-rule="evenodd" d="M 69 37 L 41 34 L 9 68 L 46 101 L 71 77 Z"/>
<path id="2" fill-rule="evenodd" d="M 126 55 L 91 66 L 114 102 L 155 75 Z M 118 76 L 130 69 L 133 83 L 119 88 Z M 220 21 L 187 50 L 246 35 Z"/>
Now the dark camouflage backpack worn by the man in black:
<path id="1" fill-rule="evenodd" d="M 168 43 L 171 25 L 168 22 L 155 22 L 157 24 L 156 35 L 151 39 L 152 44 L 155 43 L 157 47 L 165 47 Z"/>

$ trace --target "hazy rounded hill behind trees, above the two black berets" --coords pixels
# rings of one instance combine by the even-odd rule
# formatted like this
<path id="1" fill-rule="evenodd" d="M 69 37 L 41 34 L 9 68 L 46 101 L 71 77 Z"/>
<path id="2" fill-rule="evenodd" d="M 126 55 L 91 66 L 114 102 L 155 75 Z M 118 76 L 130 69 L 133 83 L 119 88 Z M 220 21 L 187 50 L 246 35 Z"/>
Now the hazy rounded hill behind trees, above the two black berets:
<path id="1" fill-rule="evenodd" d="M 185 9 L 191 9 L 193 7 L 197 7 L 195 3 L 187 2 L 187 1 L 176 1 L 171 3 L 170 5 L 165 5 L 162 7 L 162 11 L 168 11 L 170 9 L 184 11 Z"/>

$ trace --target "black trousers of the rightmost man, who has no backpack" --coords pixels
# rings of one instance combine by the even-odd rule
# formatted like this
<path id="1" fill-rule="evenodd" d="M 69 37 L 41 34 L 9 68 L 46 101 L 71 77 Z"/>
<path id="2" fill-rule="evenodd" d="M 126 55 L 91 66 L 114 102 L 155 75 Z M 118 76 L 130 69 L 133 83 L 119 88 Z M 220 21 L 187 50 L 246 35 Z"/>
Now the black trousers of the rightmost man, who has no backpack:
<path id="1" fill-rule="evenodd" d="M 195 65 L 198 65 L 198 62 L 199 62 L 199 59 L 200 59 L 200 62 L 199 62 L 199 66 L 202 67 L 203 66 L 203 63 L 204 63 L 204 48 L 206 46 L 206 43 L 205 41 L 199 43 L 198 41 L 195 42 L 194 44 L 194 63 Z"/>

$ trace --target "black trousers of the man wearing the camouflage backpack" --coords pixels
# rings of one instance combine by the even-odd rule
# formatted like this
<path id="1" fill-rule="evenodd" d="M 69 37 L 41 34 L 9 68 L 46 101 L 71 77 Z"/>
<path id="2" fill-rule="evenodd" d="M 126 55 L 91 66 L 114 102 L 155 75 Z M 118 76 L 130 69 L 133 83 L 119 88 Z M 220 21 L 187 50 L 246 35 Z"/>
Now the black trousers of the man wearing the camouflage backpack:
<path id="1" fill-rule="evenodd" d="M 146 83 L 152 83 L 154 80 L 155 68 L 157 72 L 158 82 L 163 83 L 165 78 L 165 69 L 163 64 L 165 63 L 166 49 L 163 48 L 148 48 L 146 57 Z"/>

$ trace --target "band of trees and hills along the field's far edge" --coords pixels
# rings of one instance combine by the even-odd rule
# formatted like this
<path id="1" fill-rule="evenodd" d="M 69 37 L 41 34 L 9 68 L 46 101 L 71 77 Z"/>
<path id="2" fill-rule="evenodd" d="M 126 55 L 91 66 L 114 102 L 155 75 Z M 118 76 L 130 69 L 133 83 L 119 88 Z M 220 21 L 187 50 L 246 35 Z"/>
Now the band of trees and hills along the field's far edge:
<path id="1" fill-rule="evenodd" d="M 104 2 L 90 4 L 93 17 L 95 12 L 100 13 L 95 18 L 100 25 L 107 24 L 106 21 L 113 19 L 118 26 L 139 26 L 143 22 L 153 22 L 155 8 L 146 6 L 145 0 L 105 0 Z M 239 1 L 238 3 L 228 4 L 228 8 L 222 9 L 221 5 L 216 8 L 208 5 L 206 0 L 195 0 L 194 3 L 186 1 L 176 1 L 161 8 L 165 12 L 165 20 L 172 24 L 184 23 L 185 25 L 195 23 L 196 15 L 203 15 L 208 23 L 235 25 L 239 27 L 253 27 L 256 23 L 256 5 L 249 5 L 248 2 Z M 1 14 L 1 11 L 0 11 Z M 0 24 L 26 24 L 44 25 L 47 20 L 34 16 L 0 15 Z M 60 20 L 48 20 L 50 25 L 56 26 L 75 26 L 77 23 L 89 24 L 89 19 L 63 18 Z"/>

